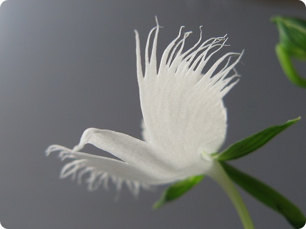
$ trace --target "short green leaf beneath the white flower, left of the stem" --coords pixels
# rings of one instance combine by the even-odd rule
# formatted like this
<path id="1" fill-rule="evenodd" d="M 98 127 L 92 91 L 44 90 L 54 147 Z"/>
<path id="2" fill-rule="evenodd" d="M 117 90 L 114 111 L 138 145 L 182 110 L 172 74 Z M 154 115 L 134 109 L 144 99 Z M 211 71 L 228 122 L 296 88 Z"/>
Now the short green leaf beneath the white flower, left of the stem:
<path id="1" fill-rule="evenodd" d="M 185 192 L 189 191 L 195 185 L 197 185 L 204 175 L 189 177 L 184 181 L 176 182 L 170 185 L 162 194 L 161 198 L 153 205 L 154 209 L 160 208 L 162 205 L 179 198 Z"/>

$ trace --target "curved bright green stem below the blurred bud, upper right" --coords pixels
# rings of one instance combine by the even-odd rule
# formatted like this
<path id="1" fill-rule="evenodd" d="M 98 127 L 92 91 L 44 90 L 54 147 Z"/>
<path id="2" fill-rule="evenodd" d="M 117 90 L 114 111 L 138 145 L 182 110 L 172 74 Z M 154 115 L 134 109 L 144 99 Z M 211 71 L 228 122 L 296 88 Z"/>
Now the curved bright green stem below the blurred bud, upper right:
<path id="1" fill-rule="evenodd" d="M 288 79 L 299 87 L 306 88 L 306 79 L 303 79 L 296 72 L 293 63 L 290 59 L 290 55 L 283 48 L 281 44 L 275 46 L 275 52 L 279 63 L 281 64 L 284 73 L 287 75 Z"/>

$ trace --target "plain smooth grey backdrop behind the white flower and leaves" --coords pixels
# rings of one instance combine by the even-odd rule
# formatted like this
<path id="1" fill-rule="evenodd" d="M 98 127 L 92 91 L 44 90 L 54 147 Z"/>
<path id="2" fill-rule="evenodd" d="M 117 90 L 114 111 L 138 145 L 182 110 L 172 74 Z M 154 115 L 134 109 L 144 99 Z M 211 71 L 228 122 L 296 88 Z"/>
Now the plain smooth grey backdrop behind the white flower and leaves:
<path id="1" fill-rule="evenodd" d="M 290 2 L 290 3 L 289 3 Z M 164 28 L 159 54 L 181 25 L 189 43 L 228 34 L 225 51 L 245 49 L 243 75 L 226 96 L 224 147 L 271 125 L 302 116 L 268 145 L 233 161 L 306 213 L 306 90 L 284 76 L 274 53 L 272 15 L 305 17 L 300 1 L 42 1 L 8 0 L 0 7 L 0 222 L 6 228 L 242 228 L 220 187 L 205 179 L 178 201 L 152 211 L 164 187 L 88 192 L 70 179 L 51 144 L 73 147 L 88 127 L 140 138 L 134 28 L 142 50 L 154 16 Z M 187 44 L 187 45 L 188 45 Z M 221 55 L 221 54 L 219 54 Z M 305 65 L 298 68 L 306 75 Z M 203 133 L 205 134 L 205 133 Z M 93 147 L 86 147 L 94 150 Z M 101 153 L 95 151 L 96 153 Z M 102 153 L 107 155 L 106 153 Z M 241 191 L 257 228 L 291 228 Z"/>

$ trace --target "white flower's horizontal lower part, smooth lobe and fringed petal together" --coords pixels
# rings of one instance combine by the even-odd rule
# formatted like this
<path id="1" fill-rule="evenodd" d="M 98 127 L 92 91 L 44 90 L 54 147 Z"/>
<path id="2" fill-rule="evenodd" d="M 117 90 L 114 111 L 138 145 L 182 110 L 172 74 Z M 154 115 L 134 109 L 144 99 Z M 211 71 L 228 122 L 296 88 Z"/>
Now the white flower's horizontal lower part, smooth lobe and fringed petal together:
<path id="1" fill-rule="evenodd" d="M 86 144 L 92 144 L 123 161 L 79 152 Z M 85 130 L 80 143 L 72 150 L 52 145 L 46 150 L 46 155 L 56 151 L 60 152 L 61 160 L 73 159 L 63 167 L 60 177 L 71 176 L 74 180 L 79 171 L 80 183 L 83 174 L 89 172 L 90 190 L 94 190 L 93 187 L 97 188 L 109 177 L 118 181 L 120 185 L 123 181 L 129 184 L 138 182 L 142 186 L 161 185 L 184 179 L 194 173 L 201 174 L 205 168 L 203 166 L 205 161 L 197 160 L 190 166 L 182 166 L 182 163 L 171 162 L 171 158 L 167 158 L 166 155 L 158 157 L 161 152 L 151 149 L 145 141 L 115 131 L 96 128 Z"/>

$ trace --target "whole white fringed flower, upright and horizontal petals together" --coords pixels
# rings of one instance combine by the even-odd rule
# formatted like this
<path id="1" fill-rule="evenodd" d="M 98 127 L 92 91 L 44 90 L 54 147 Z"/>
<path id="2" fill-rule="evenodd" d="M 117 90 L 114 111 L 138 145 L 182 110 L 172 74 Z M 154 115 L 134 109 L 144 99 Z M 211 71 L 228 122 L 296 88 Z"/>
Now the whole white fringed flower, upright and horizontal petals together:
<path id="1" fill-rule="evenodd" d="M 61 178 L 72 176 L 81 183 L 82 176 L 88 173 L 90 190 L 99 185 L 107 187 L 111 179 L 118 189 L 125 182 L 137 195 L 140 187 L 210 173 L 214 163 L 202 155 L 217 152 L 223 144 L 227 124 L 222 98 L 238 81 L 233 80 L 238 76 L 234 67 L 241 54 L 227 53 L 210 64 L 212 55 L 225 46 L 226 38 L 202 42 L 200 35 L 193 47 L 183 51 L 191 33 L 182 35 L 181 27 L 179 35 L 165 49 L 158 67 L 159 30 L 157 22 L 147 38 L 144 74 L 139 35 L 135 31 L 144 141 L 111 130 L 89 128 L 72 150 L 58 145 L 46 150 L 47 155 L 60 151 L 62 160 L 72 159 L 63 167 Z M 86 144 L 122 161 L 81 153 Z"/>

